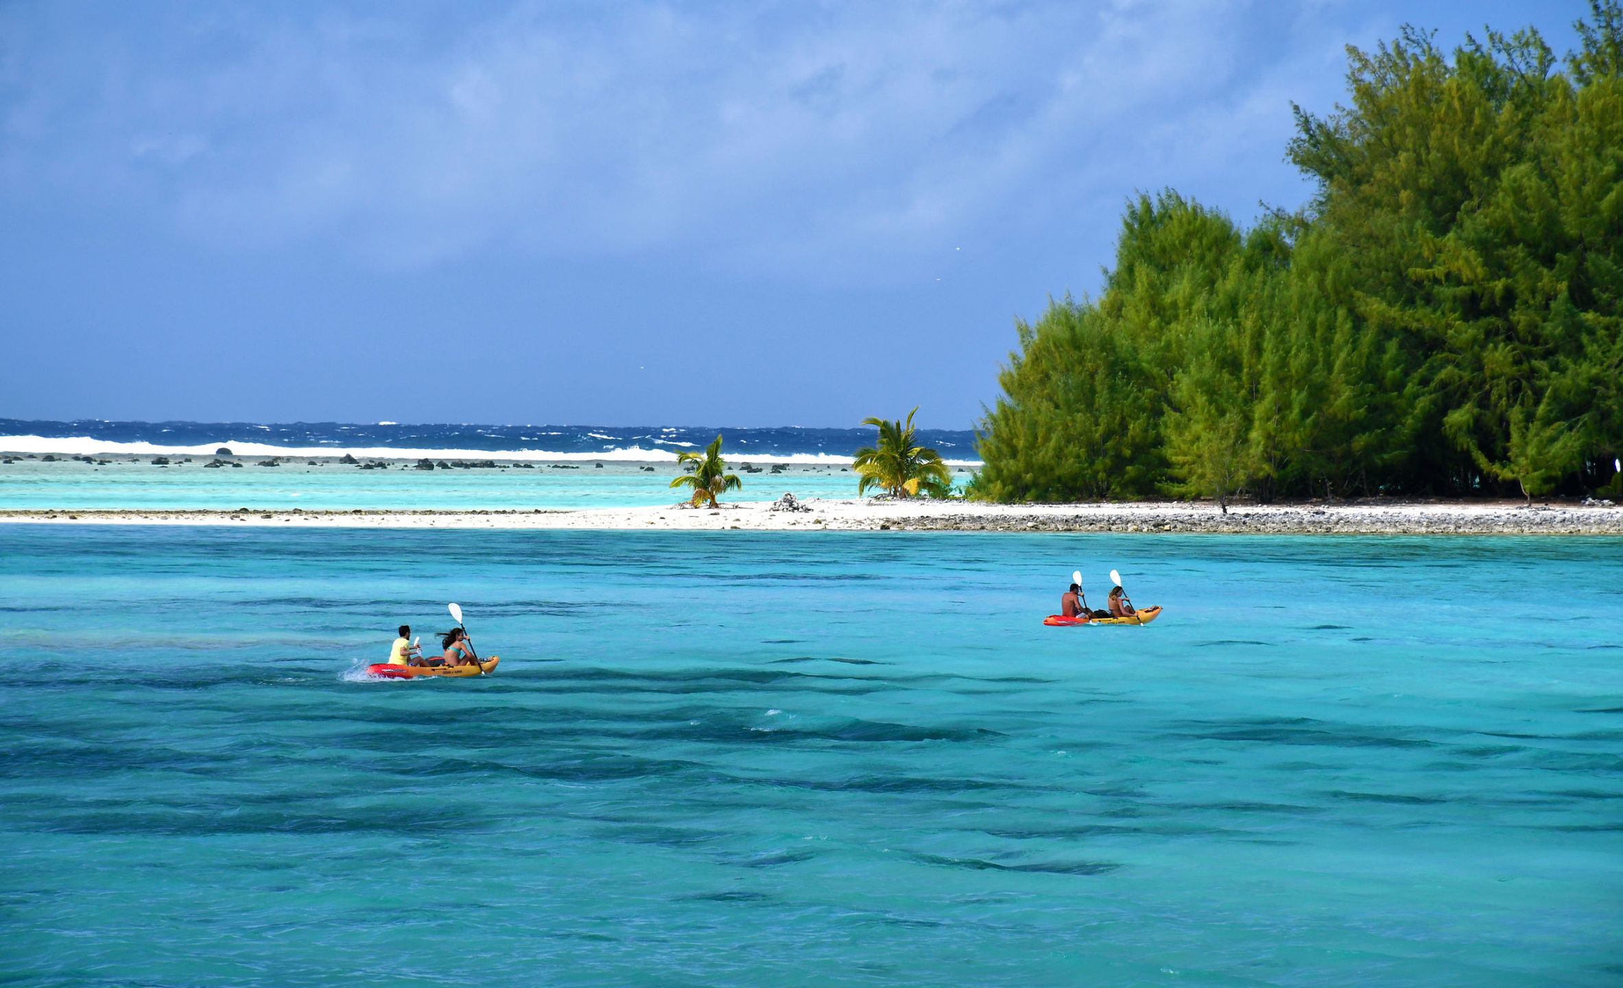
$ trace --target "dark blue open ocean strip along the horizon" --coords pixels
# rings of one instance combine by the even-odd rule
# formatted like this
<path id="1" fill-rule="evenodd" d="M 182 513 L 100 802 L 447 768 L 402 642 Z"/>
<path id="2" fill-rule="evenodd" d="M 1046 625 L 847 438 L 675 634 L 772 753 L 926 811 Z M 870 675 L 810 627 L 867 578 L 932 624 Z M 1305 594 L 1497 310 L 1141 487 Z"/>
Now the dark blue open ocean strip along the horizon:
<path id="1" fill-rule="evenodd" d="M 625 449 L 693 449 L 708 445 L 717 433 L 725 436 L 727 451 L 740 456 L 837 456 L 849 459 L 860 446 L 873 443 L 873 428 L 735 428 L 735 427 L 659 427 L 638 425 L 610 428 L 597 425 L 357 425 L 342 422 L 294 422 L 263 425 L 256 422 L 34 422 L 0 419 L 3 436 L 44 436 L 96 440 L 96 449 L 143 443 L 151 446 L 196 448 L 230 443 L 284 446 L 289 449 L 446 449 L 446 451 L 549 451 L 560 454 L 601 454 Z M 946 459 L 974 459 L 975 436 L 967 430 L 920 428 L 923 445 L 936 448 Z M 81 449 L 68 449 L 81 453 Z M 86 448 L 83 453 L 89 453 Z"/>

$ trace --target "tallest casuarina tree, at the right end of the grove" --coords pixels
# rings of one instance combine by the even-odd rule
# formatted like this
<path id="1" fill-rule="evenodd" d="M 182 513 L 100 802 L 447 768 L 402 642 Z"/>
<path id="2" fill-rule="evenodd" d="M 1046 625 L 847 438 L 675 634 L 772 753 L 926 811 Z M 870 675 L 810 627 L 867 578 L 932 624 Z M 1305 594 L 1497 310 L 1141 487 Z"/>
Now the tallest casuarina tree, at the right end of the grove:
<path id="1" fill-rule="evenodd" d="M 1555 73 L 1534 31 L 1352 50 L 1352 107 L 1290 154 L 1357 268 L 1358 311 L 1402 349 L 1419 457 L 1535 496 L 1612 440 L 1597 350 L 1618 336 L 1618 6 Z M 1576 83 L 1576 86 L 1574 86 Z M 1438 467 L 1443 467 L 1438 470 Z"/>

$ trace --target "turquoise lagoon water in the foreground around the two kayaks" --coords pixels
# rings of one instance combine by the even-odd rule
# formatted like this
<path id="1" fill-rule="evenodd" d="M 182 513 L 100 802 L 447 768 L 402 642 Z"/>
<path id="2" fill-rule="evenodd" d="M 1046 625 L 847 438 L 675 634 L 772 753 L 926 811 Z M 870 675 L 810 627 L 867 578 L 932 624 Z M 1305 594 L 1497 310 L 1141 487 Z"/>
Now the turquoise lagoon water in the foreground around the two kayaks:
<path id="1" fill-rule="evenodd" d="M 1078 568 L 1165 615 L 1044 628 Z M 3 526 L 0 594 L 6 985 L 1623 980 L 1617 540 Z M 446 600 L 497 675 L 355 675 Z"/>

